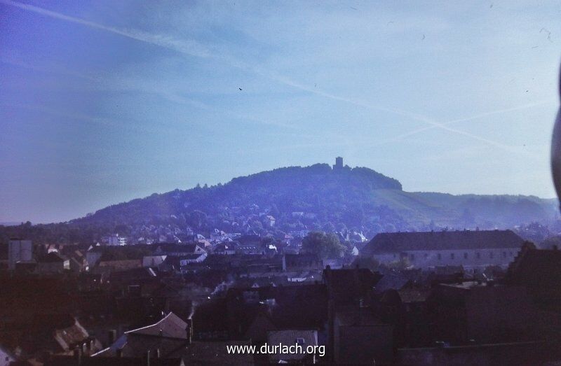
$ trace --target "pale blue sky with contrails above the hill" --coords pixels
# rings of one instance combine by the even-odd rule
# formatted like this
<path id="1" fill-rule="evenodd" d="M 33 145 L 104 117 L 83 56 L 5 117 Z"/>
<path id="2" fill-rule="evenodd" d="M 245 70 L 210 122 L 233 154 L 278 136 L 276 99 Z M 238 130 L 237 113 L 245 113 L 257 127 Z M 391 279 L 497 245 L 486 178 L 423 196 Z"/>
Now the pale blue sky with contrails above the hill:
<path id="1" fill-rule="evenodd" d="M 0 222 L 277 167 L 555 197 L 560 1 L 0 0 Z"/>

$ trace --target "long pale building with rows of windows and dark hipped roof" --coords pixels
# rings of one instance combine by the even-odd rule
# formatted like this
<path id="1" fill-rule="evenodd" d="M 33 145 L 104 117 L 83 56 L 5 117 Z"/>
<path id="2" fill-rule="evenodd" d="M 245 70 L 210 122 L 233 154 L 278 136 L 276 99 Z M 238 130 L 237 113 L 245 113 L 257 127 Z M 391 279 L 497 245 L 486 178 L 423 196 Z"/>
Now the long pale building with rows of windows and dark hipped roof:
<path id="1" fill-rule="evenodd" d="M 405 261 L 421 269 L 447 265 L 466 269 L 506 267 L 523 242 L 511 230 L 384 232 L 377 234 L 361 255 L 384 264 Z"/>

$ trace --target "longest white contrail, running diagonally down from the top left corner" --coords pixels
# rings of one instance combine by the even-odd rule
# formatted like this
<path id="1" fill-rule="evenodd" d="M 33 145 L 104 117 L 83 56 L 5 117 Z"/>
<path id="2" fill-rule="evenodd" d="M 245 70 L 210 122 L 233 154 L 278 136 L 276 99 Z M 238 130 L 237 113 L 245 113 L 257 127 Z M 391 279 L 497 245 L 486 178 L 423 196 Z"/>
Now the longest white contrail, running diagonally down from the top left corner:
<path id="1" fill-rule="evenodd" d="M 306 92 L 311 92 L 313 94 L 317 94 L 317 95 L 320 95 L 320 96 L 323 96 L 323 97 L 326 97 L 326 98 L 329 98 L 329 99 L 333 99 L 333 100 L 344 101 L 346 103 L 353 104 L 353 105 L 356 105 L 356 106 L 360 106 L 360 107 L 363 107 L 363 108 L 373 109 L 373 110 L 377 110 L 377 111 L 386 111 L 388 113 L 403 115 L 407 118 L 412 118 L 413 120 L 419 120 L 421 122 L 425 122 L 428 125 L 431 125 L 431 127 L 433 127 L 433 128 L 444 129 L 444 130 L 449 131 L 449 132 L 454 132 L 456 134 L 461 134 L 461 135 L 470 137 L 471 139 L 475 139 L 475 140 L 478 140 L 478 141 L 489 143 L 492 146 L 496 146 L 496 147 L 499 147 L 499 148 L 506 148 L 507 150 L 510 149 L 509 146 L 503 145 L 503 144 L 498 143 L 496 141 L 485 139 L 483 137 L 477 136 L 475 134 L 471 134 L 469 132 L 461 131 L 459 129 L 453 129 L 453 128 L 447 127 L 446 125 L 444 125 L 442 123 L 438 123 L 435 120 L 432 120 L 430 118 L 426 118 L 423 115 L 417 115 L 415 113 L 410 113 L 410 112 L 407 112 L 407 111 L 400 111 L 399 109 L 395 109 L 395 108 L 386 108 L 384 106 L 374 106 L 374 105 L 371 105 L 371 104 L 365 104 L 363 102 L 354 101 L 352 99 L 339 97 L 339 96 L 334 95 L 334 94 L 321 92 L 320 90 L 316 90 L 315 88 L 306 87 L 306 86 L 301 85 L 299 83 L 295 83 L 294 81 L 292 81 L 288 78 L 285 78 L 284 76 L 277 76 L 277 75 L 274 75 L 274 74 L 271 74 L 271 73 L 268 73 L 268 72 L 261 71 L 259 69 L 256 69 L 255 67 L 252 67 L 252 66 L 249 66 L 248 64 L 245 64 L 244 62 L 240 62 L 238 60 L 231 59 L 231 57 L 225 57 L 225 56 L 218 56 L 217 57 L 217 56 L 213 55 L 208 50 L 208 48 L 205 48 L 203 45 L 201 45 L 201 44 L 199 44 L 195 41 L 187 41 L 187 42 L 186 41 L 180 41 L 180 40 L 177 40 L 176 38 L 173 38 L 173 37 L 149 34 L 147 32 L 140 31 L 140 30 L 137 30 L 137 29 L 124 30 L 124 29 L 119 29 L 119 28 L 115 28 L 115 27 L 109 27 L 109 26 L 106 26 L 106 25 L 103 25 L 103 24 L 98 24 L 98 23 L 95 23 L 95 22 L 90 22 L 88 20 L 81 19 L 79 17 L 71 17 L 69 15 L 64 15 L 64 14 L 61 14 L 61 13 L 56 13 L 56 12 L 51 11 L 51 10 L 40 8 L 39 6 L 32 6 L 32 5 L 28 5 L 28 4 L 25 4 L 25 3 L 19 3 L 17 1 L 13 1 L 13 0 L 0 0 L 0 3 L 4 3 L 5 5 L 8 5 L 8 6 L 15 6 L 16 8 L 20 8 L 22 10 L 28 10 L 28 11 L 31 11 L 32 13 L 37 13 L 37 14 L 41 14 L 41 15 L 46 15 L 48 17 L 53 17 L 55 19 L 65 20 L 67 22 L 73 22 L 73 23 L 76 23 L 76 24 L 82 24 L 82 25 L 85 25 L 86 27 L 90 27 L 90 28 L 93 28 L 93 29 L 100 29 L 100 30 L 103 30 L 103 31 L 109 31 L 111 33 L 119 34 L 120 36 L 125 36 L 125 37 L 128 37 L 128 38 L 132 38 L 132 39 L 135 39 L 137 41 L 150 43 L 152 45 L 158 45 L 160 47 L 168 48 L 170 50 L 175 50 L 175 51 L 180 52 L 184 55 L 195 56 L 195 57 L 205 57 L 205 58 L 210 57 L 210 58 L 213 58 L 213 59 L 222 59 L 222 60 L 228 62 L 229 64 L 231 64 L 231 66 L 234 66 L 236 68 L 252 71 L 254 73 L 257 73 L 258 75 L 276 80 L 276 81 L 278 81 L 278 83 L 283 83 L 285 85 L 289 85 L 289 86 L 295 87 L 297 89 L 304 90 Z"/>

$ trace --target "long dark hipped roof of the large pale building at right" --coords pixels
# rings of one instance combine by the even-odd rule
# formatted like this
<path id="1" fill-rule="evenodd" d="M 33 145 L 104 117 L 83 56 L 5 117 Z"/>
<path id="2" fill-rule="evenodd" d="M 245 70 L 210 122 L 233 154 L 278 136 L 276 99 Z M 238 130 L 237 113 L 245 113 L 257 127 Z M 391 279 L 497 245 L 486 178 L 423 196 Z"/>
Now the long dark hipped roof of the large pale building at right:
<path id="1" fill-rule="evenodd" d="M 520 248 L 524 240 L 511 230 L 442 232 L 384 232 L 377 234 L 363 254 L 454 249 Z"/>

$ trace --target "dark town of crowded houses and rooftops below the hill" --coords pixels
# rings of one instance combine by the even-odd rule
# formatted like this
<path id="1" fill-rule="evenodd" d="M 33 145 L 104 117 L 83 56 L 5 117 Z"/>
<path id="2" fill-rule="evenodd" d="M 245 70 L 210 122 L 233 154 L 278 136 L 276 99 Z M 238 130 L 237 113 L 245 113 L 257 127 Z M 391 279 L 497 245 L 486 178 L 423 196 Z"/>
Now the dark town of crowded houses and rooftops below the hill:
<path id="1" fill-rule="evenodd" d="M 561 358 L 561 251 L 511 230 L 12 238 L 1 250 L 1 365 Z M 231 351 L 266 344 L 325 351 Z"/>

